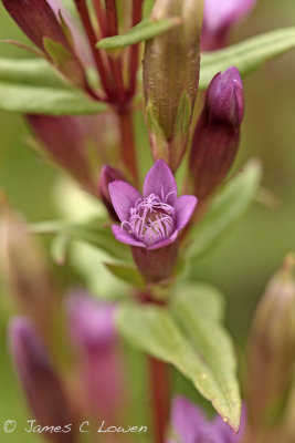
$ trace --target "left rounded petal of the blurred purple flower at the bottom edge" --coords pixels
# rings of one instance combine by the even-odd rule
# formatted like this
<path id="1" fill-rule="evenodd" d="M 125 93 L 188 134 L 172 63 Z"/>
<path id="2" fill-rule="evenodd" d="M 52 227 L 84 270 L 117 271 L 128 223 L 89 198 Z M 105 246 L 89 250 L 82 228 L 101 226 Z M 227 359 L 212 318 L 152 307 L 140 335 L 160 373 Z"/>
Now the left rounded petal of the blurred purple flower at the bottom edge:
<path id="1" fill-rule="evenodd" d="M 192 442 L 200 429 L 207 424 L 202 411 L 183 396 L 176 396 L 172 403 L 171 424 L 183 442 Z"/>

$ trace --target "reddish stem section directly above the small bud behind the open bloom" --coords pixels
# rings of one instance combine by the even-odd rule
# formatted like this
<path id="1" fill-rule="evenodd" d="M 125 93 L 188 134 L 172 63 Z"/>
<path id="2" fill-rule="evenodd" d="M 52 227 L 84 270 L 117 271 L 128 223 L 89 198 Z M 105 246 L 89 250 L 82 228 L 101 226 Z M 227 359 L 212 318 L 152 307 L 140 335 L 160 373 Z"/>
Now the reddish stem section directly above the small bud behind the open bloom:
<path id="1" fill-rule="evenodd" d="M 126 168 L 131 174 L 135 184 L 138 185 L 133 114 L 130 109 L 119 109 L 117 113 L 119 117 L 122 157 Z"/>

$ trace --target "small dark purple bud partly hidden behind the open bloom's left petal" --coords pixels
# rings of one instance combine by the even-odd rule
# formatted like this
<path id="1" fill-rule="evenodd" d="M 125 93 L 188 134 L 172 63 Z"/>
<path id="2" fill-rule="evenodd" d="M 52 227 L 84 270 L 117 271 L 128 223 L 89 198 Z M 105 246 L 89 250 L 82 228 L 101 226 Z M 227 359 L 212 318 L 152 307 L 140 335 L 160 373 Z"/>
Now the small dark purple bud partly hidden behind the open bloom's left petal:
<path id="1" fill-rule="evenodd" d="M 113 206 L 113 203 L 110 199 L 110 195 L 109 195 L 109 190 L 108 190 L 109 183 L 115 182 L 115 181 L 124 181 L 125 182 L 126 179 L 125 179 L 124 175 L 122 174 L 122 172 L 116 169 L 115 167 L 112 167 L 108 165 L 103 166 L 102 172 L 101 172 L 99 182 L 98 182 L 99 194 L 101 194 L 102 200 L 103 200 L 109 216 L 114 220 L 118 222 L 119 219 L 114 209 L 114 206 Z"/>

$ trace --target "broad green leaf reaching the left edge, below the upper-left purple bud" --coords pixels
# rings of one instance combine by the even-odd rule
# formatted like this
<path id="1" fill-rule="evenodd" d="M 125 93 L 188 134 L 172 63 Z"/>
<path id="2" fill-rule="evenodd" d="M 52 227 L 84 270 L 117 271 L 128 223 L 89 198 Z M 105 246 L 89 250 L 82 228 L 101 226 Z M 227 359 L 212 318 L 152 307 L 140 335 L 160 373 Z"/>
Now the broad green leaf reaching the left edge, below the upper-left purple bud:
<path id="1" fill-rule="evenodd" d="M 82 115 L 105 111 L 72 87 L 44 60 L 0 59 L 0 110 L 24 114 Z"/>

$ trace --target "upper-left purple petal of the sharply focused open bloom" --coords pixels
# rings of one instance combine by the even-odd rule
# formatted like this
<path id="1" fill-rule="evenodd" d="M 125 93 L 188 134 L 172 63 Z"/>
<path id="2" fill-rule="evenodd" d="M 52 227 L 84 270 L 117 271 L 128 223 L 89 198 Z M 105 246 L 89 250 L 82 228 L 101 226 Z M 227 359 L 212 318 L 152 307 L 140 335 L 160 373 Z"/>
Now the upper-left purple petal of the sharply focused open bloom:
<path id="1" fill-rule="evenodd" d="M 141 195 L 135 187 L 129 185 L 129 183 L 120 181 L 109 183 L 108 190 L 113 206 L 120 222 L 128 220 L 130 217 L 130 208 L 141 198 Z"/>

